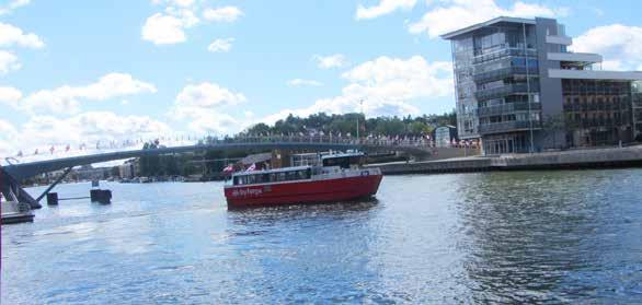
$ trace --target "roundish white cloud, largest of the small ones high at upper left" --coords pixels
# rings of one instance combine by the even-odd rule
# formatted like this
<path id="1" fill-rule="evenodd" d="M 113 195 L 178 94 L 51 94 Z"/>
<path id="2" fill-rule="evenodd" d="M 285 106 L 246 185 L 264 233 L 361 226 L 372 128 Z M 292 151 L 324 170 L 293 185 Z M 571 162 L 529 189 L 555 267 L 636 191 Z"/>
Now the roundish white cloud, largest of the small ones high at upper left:
<path id="1" fill-rule="evenodd" d="M 180 19 L 156 13 L 147 19 L 142 26 L 142 39 L 154 45 L 171 45 L 186 40 L 185 27 Z"/>

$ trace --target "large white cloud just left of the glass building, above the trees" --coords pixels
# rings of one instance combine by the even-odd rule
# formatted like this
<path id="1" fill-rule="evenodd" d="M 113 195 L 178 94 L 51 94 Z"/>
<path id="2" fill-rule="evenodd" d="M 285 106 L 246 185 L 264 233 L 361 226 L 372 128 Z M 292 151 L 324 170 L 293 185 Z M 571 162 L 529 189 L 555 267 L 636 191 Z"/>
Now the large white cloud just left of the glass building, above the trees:
<path id="1" fill-rule="evenodd" d="M 309 116 L 317 113 L 344 114 L 362 112 L 367 116 L 419 115 L 409 102 L 452 94 L 451 63 L 428 62 L 421 56 L 408 59 L 379 57 L 342 74 L 349 83 L 342 94 L 321 98 L 309 107 L 284 109 L 259 121 L 273 124 L 289 114 Z"/>

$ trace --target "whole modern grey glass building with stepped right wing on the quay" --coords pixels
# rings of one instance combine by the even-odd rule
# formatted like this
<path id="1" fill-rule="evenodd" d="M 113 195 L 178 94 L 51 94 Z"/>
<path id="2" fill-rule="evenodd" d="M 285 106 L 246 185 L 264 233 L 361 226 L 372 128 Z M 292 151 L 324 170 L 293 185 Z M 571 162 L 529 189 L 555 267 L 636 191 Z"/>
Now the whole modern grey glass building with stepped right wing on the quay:
<path id="1" fill-rule="evenodd" d="M 642 132 L 642 72 L 604 71 L 571 52 L 552 19 L 497 17 L 443 35 L 451 42 L 457 128 L 484 153 L 627 143 Z"/>

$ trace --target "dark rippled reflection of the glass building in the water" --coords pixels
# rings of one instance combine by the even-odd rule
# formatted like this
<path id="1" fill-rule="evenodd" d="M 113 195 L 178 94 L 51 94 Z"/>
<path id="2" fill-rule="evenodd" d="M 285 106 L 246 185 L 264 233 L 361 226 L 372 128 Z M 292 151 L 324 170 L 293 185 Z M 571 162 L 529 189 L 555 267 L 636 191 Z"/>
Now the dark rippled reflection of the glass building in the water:
<path id="1" fill-rule="evenodd" d="M 611 199 L 634 189 L 621 185 L 627 176 L 605 171 L 462 177 L 458 248 L 467 254 L 472 301 L 618 300 L 617 281 L 605 286 L 585 274 L 614 268 L 605 256 L 622 246 L 612 233 L 628 225 L 619 221 L 621 202 Z"/>

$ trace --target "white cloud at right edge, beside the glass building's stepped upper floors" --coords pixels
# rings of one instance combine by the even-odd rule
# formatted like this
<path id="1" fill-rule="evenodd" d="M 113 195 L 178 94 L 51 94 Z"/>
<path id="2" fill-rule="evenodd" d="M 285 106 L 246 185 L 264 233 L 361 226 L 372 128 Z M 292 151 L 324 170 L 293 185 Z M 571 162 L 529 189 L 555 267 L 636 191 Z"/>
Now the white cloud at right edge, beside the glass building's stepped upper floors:
<path id="1" fill-rule="evenodd" d="M 573 39 L 574 51 L 597 52 L 607 70 L 642 70 L 642 27 L 611 24 L 588 30 Z"/>

